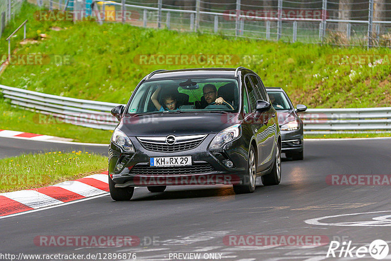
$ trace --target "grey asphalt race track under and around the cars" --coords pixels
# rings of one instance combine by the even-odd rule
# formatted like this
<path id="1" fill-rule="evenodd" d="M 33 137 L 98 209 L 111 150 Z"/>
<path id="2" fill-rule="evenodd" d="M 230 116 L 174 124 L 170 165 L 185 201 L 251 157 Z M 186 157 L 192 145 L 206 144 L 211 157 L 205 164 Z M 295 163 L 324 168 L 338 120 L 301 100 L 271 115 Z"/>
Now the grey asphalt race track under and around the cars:
<path id="1" fill-rule="evenodd" d="M 20 153 L 26 145 L 27 152 L 76 149 L 74 145 L 2 138 L 0 144 L 2 156 Z M 221 254 L 221 260 L 315 261 L 326 259 L 329 240 L 333 239 L 351 240 L 352 246 L 369 246 L 373 240 L 383 239 L 391 247 L 390 186 L 328 185 L 326 176 L 330 174 L 390 175 L 391 139 L 306 141 L 303 161 L 283 160 L 281 184 L 258 185 L 253 194 L 235 195 L 231 186 L 222 185 L 169 187 L 164 193 L 136 188 L 128 202 L 114 202 L 106 195 L 2 218 L 0 254 L 91 253 L 103 258 L 104 253 L 135 253 L 136 260 L 163 261 L 170 257 L 185 260 L 183 256 L 174 259 L 173 253 L 200 253 L 201 259 L 215 253 L 217 257 Z M 34 243 L 36 237 L 49 235 L 136 236 L 141 241 L 137 246 L 115 247 Z M 328 241 L 323 246 L 232 246 L 225 244 L 227 235 L 318 235 Z M 390 253 L 385 260 L 391 259 Z M 103 260 L 110 259 L 106 256 Z M 367 253 L 362 260 L 374 259 Z"/>

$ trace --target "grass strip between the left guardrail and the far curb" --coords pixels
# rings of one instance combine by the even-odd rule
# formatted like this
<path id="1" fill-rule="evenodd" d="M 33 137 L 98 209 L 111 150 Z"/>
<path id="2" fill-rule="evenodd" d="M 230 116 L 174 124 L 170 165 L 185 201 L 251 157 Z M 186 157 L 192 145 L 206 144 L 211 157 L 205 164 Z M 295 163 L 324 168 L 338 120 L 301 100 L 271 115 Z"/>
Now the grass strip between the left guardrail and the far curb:
<path id="1" fill-rule="evenodd" d="M 47 124 L 51 122 L 50 124 Z M 54 123 L 53 123 L 54 122 Z M 96 130 L 60 121 L 39 121 L 39 114 L 24 109 L 13 108 L 0 99 L 0 129 L 26 131 L 63 138 L 71 138 L 75 142 L 109 144 L 112 131 Z"/>

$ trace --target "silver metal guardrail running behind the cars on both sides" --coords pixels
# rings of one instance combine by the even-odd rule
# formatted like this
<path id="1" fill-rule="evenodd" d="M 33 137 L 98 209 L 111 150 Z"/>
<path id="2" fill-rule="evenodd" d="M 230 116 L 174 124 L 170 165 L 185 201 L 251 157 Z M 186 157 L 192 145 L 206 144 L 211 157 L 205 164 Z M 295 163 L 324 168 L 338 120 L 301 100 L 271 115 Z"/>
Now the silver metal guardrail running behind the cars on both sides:
<path id="1" fill-rule="evenodd" d="M 0 85 L 11 104 L 53 115 L 65 123 L 113 130 L 118 121 L 110 110 L 115 103 L 68 98 Z M 391 132 L 391 107 L 354 109 L 307 109 L 300 113 L 306 134 Z"/>

